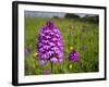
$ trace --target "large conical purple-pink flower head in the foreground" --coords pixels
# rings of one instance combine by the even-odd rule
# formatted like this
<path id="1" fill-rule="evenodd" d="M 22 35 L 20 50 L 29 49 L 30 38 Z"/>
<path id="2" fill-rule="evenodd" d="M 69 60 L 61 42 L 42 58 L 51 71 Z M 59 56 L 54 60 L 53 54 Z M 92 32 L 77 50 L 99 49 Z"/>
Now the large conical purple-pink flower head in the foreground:
<path id="1" fill-rule="evenodd" d="M 50 60 L 51 62 L 61 62 L 63 57 L 63 44 L 60 30 L 53 22 L 48 21 L 43 25 L 38 33 L 37 51 L 40 61 Z"/>

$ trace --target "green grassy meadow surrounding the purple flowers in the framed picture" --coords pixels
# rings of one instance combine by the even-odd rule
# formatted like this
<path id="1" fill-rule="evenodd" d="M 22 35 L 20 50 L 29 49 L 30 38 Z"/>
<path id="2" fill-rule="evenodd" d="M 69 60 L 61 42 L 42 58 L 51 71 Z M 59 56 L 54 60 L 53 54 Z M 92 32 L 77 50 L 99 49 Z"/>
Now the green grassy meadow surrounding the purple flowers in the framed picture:
<path id="1" fill-rule="evenodd" d="M 37 37 L 38 30 L 47 22 L 47 18 L 25 17 L 24 46 L 25 49 L 29 49 L 29 52 L 25 54 L 25 75 L 43 75 L 44 70 L 48 70 L 50 74 L 99 72 L 98 23 L 65 17 L 52 17 L 50 20 L 53 21 L 62 35 L 63 62 L 53 63 L 52 66 L 49 61 L 45 65 L 39 64 L 39 61 L 35 59 Z M 76 62 L 69 61 L 71 48 L 80 54 Z"/>

